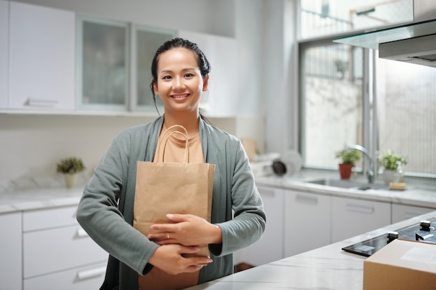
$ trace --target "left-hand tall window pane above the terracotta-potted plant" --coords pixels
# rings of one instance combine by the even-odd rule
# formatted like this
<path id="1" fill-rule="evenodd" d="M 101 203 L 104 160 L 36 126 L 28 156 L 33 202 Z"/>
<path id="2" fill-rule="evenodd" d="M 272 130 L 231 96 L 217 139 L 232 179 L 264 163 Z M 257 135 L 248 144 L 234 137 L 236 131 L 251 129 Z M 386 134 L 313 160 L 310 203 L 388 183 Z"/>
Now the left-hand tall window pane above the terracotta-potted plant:
<path id="1" fill-rule="evenodd" d="M 327 44 L 304 50 L 304 166 L 337 169 L 335 152 L 362 138 L 362 49 Z"/>

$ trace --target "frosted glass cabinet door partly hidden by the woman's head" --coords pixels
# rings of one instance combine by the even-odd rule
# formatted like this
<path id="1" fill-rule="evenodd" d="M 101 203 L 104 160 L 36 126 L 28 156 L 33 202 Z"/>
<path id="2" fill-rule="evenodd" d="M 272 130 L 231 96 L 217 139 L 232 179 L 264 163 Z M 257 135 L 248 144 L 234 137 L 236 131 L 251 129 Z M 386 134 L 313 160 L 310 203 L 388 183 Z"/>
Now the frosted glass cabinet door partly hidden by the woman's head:
<path id="1" fill-rule="evenodd" d="M 134 111 L 155 111 L 155 103 L 150 90 L 151 83 L 151 62 L 155 56 L 156 50 L 166 40 L 174 38 L 175 31 L 165 31 L 157 29 L 147 29 L 136 27 L 134 29 Z M 163 113 L 163 105 L 158 96 L 156 96 L 156 104 L 159 112 Z"/>

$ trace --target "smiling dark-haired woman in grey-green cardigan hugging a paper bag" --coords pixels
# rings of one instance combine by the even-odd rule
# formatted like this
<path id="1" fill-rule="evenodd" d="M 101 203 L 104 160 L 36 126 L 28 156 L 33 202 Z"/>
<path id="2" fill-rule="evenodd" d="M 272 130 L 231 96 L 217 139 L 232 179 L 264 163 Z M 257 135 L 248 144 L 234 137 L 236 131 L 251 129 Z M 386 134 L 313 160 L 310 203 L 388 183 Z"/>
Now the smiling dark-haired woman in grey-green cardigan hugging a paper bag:
<path id="1" fill-rule="evenodd" d="M 164 115 L 112 140 L 77 211 L 80 225 L 110 254 L 102 289 L 147 289 L 153 268 L 168 276 L 161 280 L 187 275 L 190 281 L 162 289 L 182 289 L 229 275 L 233 252 L 260 239 L 265 230 L 263 202 L 240 140 L 198 113 L 210 72 L 203 52 L 188 40 L 169 40 L 157 49 L 151 70 L 153 97 L 162 100 Z M 153 161 L 159 136 L 174 124 L 187 129 L 190 156 L 215 164 L 211 222 L 168 213 L 175 223 L 153 225 L 154 234 L 145 236 L 132 227 L 137 161 Z M 184 146 L 178 145 L 176 136 L 171 138 L 170 158 L 177 159 Z M 185 255 L 202 244 L 209 245 L 210 257 Z"/>

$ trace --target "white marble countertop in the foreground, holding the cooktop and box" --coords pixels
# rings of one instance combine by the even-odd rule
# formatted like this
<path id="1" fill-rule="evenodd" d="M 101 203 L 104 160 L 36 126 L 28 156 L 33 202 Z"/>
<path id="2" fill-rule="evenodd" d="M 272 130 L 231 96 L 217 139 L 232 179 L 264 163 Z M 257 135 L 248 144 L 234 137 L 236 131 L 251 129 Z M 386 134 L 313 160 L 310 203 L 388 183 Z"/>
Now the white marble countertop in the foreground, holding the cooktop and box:
<path id="1" fill-rule="evenodd" d="M 189 290 L 272 290 L 322 289 L 362 290 L 366 257 L 341 250 L 347 245 L 386 234 L 389 231 L 419 223 L 436 216 L 436 211 L 416 216 L 400 223 L 382 227 L 338 243 L 304 252 L 293 257 L 257 266 L 187 288 Z M 266 250 L 266 249 L 265 249 Z"/>

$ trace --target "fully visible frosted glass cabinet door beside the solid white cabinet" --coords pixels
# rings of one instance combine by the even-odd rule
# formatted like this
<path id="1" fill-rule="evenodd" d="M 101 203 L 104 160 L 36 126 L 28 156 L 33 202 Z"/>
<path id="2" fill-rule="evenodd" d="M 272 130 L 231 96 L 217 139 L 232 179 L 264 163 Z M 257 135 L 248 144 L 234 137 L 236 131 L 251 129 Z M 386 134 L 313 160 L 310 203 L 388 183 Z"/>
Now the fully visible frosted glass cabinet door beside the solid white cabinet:
<path id="1" fill-rule="evenodd" d="M 79 17 L 78 25 L 79 108 L 126 111 L 127 24 Z"/>

